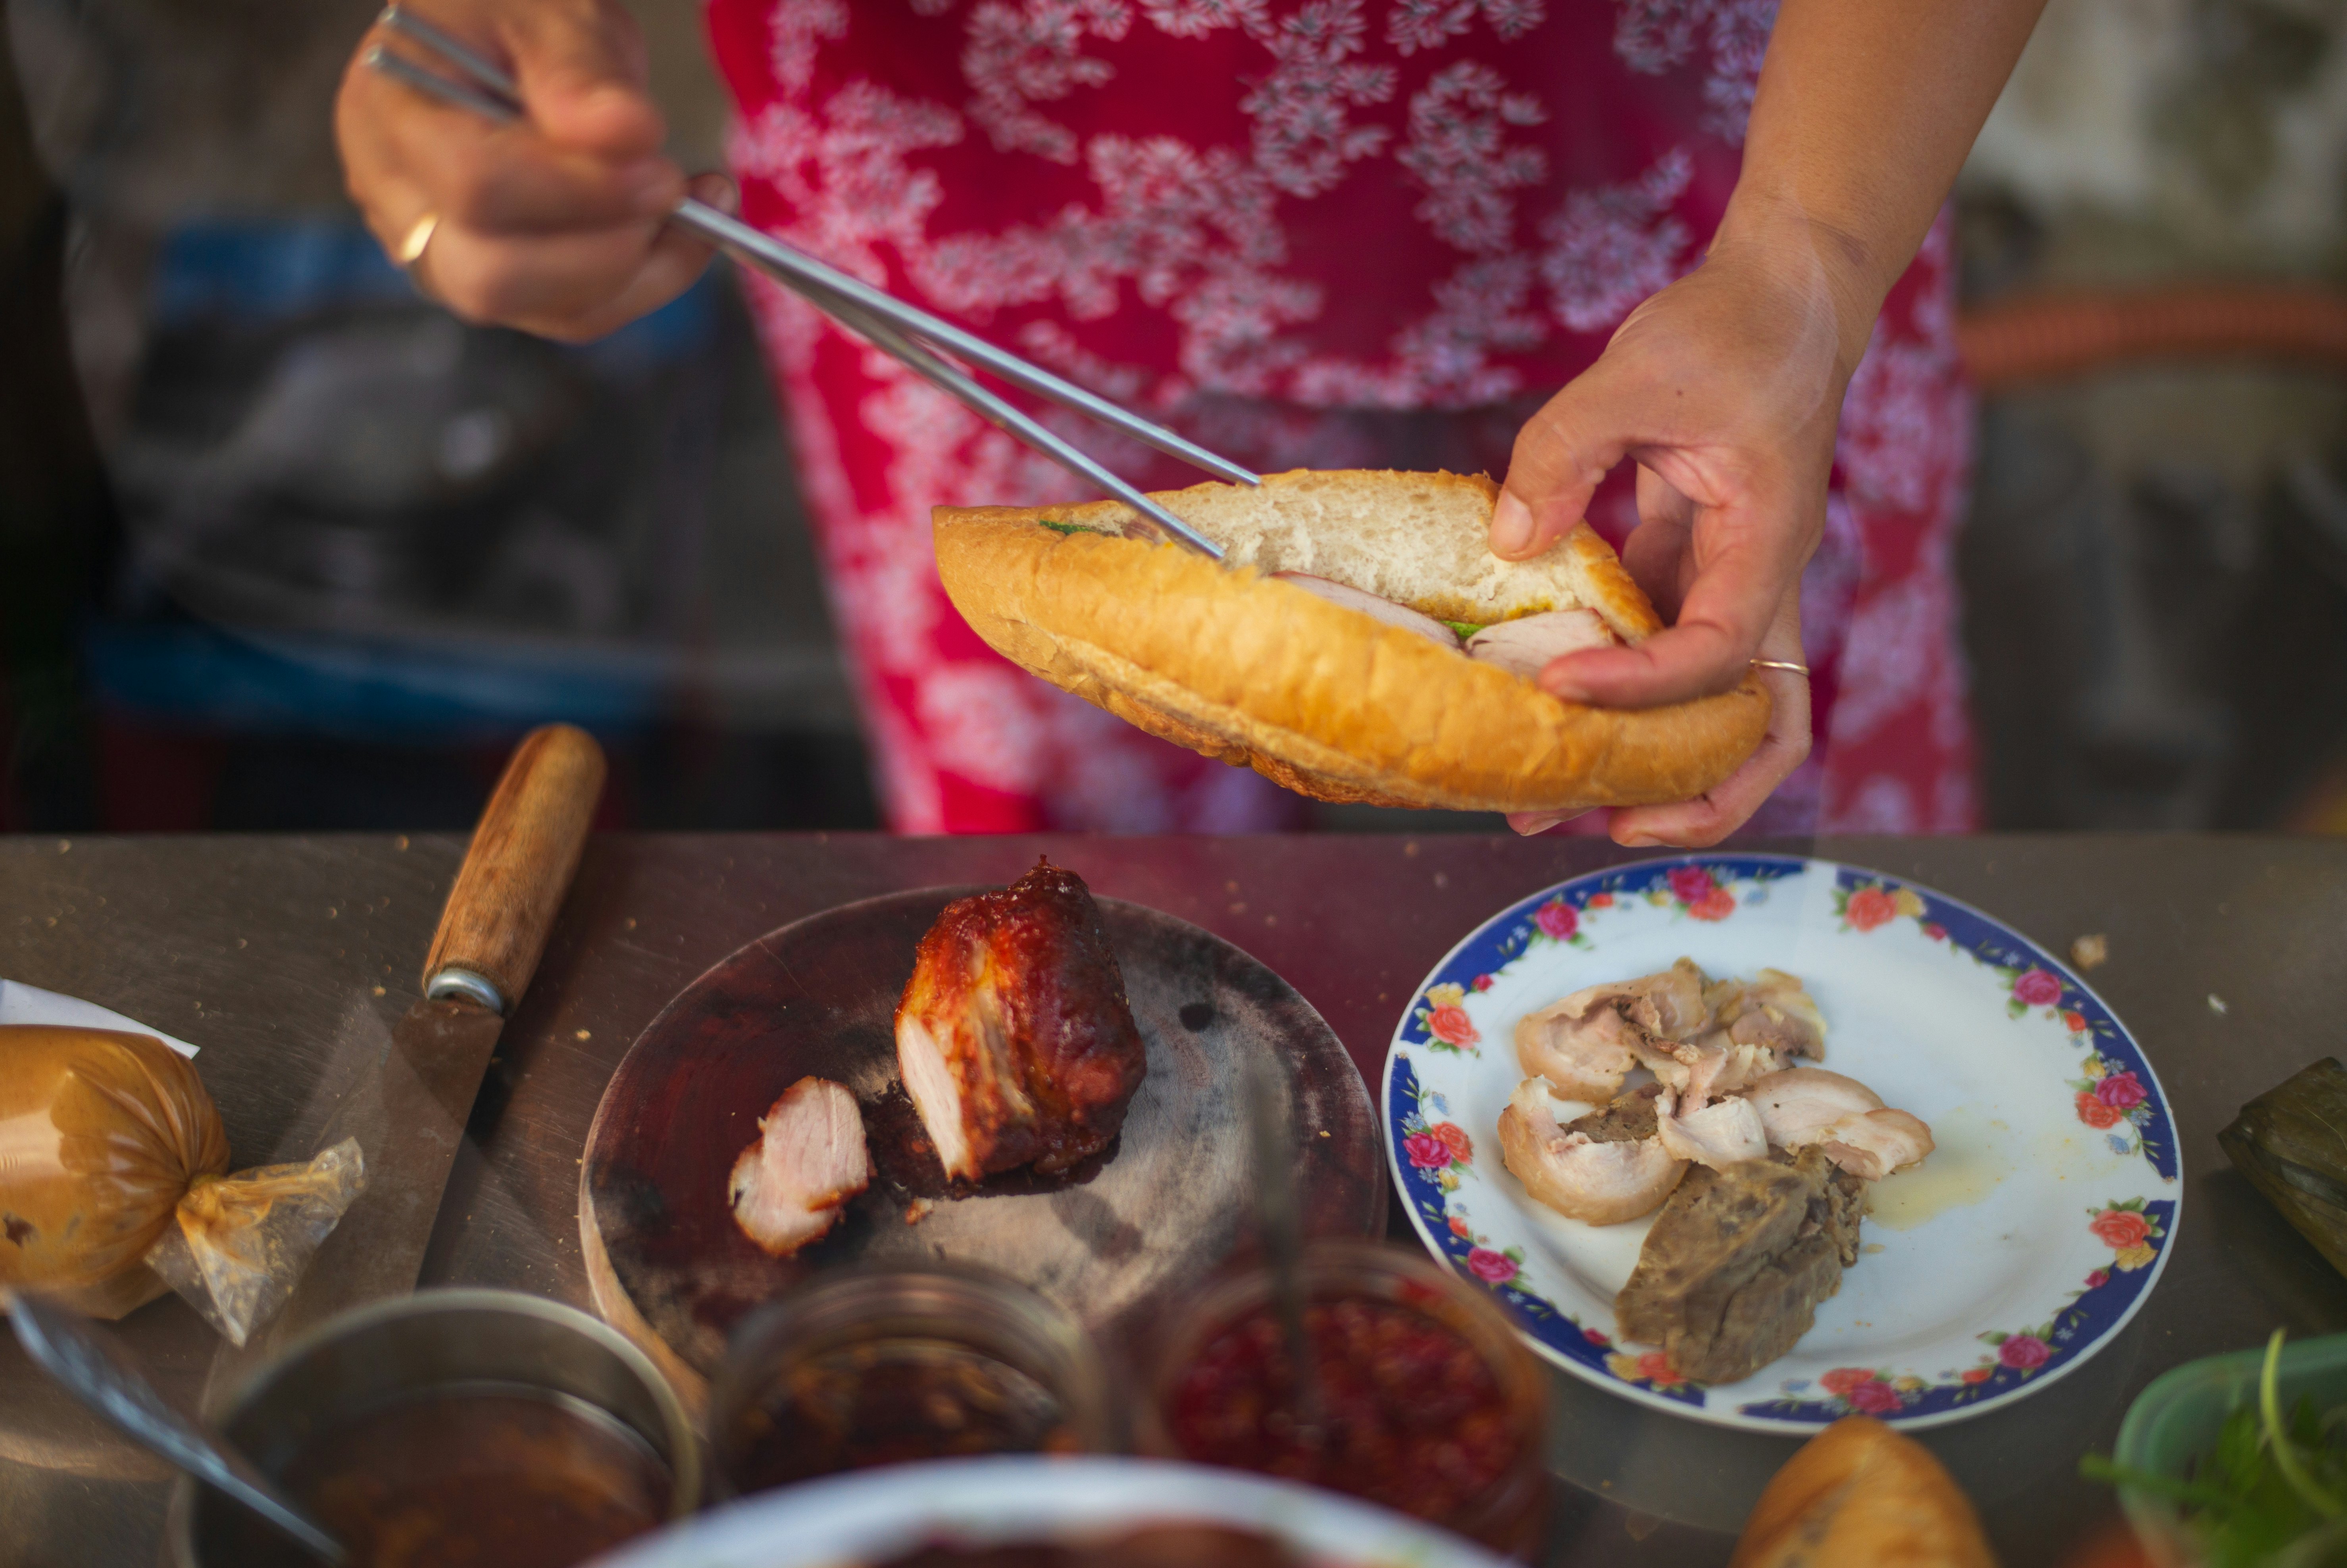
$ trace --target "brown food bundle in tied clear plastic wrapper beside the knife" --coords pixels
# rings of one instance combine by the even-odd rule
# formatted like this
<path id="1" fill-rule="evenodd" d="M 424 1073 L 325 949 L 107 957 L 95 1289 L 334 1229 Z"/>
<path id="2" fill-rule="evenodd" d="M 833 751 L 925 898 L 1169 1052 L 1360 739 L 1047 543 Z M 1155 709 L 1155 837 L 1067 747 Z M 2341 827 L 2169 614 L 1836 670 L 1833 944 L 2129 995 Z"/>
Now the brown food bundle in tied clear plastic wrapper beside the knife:
<path id="1" fill-rule="evenodd" d="M 225 1171 L 211 1094 L 153 1035 L 0 1026 L 0 1291 L 122 1317 L 176 1289 L 242 1345 L 366 1176 L 357 1141 Z"/>

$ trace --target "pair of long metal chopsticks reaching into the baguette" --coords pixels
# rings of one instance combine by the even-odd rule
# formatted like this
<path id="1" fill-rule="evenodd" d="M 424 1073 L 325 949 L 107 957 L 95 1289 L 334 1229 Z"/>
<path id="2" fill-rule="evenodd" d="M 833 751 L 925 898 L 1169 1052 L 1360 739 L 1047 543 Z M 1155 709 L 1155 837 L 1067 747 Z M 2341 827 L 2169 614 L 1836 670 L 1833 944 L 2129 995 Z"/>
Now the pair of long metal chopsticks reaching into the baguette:
<path id="1" fill-rule="evenodd" d="M 371 45 L 366 49 L 364 59 L 371 70 L 380 70 L 415 92 L 430 94 L 444 103 L 453 103 L 488 120 L 523 117 L 521 89 L 514 77 L 498 68 L 495 61 L 483 59 L 462 40 L 451 38 L 441 28 L 432 26 L 422 16 L 415 16 L 413 12 L 401 9 L 399 5 L 385 7 L 378 21 L 392 33 L 422 45 L 439 59 L 455 66 L 465 80 L 451 80 L 437 70 L 427 70 L 404 54 L 385 49 L 383 45 Z M 946 394 L 974 408 L 997 430 L 1019 437 L 1068 472 L 1080 474 L 1101 491 L 1134 507 L 1145 519 L 1143 530 L 1155 530 L 1159 538 L 1188 545 L 1190 549 L 1213 556 L 1216 561 L 1223 559 L 1223 549 L 1213 540 L 1199 535 L 1138 488 L 1101 467 L 1098 460 L 1028 418 L 1021 408 L 981 387 L 969 378 L 969 373 L 948 364 L 936 350 L 946 350 L 972 364 L 986 366 L 1016 387 L 1026 387 L 1028 392 L 1035 392 L 1037 397 L 1044 397 L 1063 408 L 1091 415 L 1103 425 L 1122 430 L 1136 441 L 1143 441 L 1169 458 L 1181 458 L 1183 462 L 1202 467 L 1218 479 L 1263 484 L 1237 462 L 1230 462 L 1195 441 L 1185 441 L 1171 430 L 1152 425 L 1105 397 L 1087 392 L 1084 387 L 1077 387 L 1075 383 L 1063 380 L 1051 371 L 1021 359 L 1019 354 L 1000 350 L 986 338 L 962 331 L 953 322 L 941 322 L 927 310 L 906 305 L 859 277 L 828 268 L 805 251 L 798 251 L 782 239 L 718 211 L 716 207 L 685 197 L 676 204 L 671 221 L 756 265 L 760 272 L 775 277 L 786 289 L 810 300 L 817 310 L 897 357 L 915 376 L 922 376 Z"/>

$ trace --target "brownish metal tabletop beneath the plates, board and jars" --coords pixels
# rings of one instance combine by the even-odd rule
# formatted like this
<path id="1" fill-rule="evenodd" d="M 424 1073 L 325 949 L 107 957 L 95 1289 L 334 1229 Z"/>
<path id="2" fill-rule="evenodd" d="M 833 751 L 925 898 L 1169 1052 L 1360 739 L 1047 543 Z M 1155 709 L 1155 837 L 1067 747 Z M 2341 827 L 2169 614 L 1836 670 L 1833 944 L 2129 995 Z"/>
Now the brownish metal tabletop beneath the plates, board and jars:
<path id="1" fill-rule="evenodd" d="M 0 976 L 169 1028 L 197 1059 L 237 1164 L 300 1157 L 383 1049 L 455 873 L 453 838 L 0 840 Z M 1795 845 L 1781 845 L 1795 847 Z M 2054 951 L 2108 932 L 2094 984 L 2169 1089 L 2192 1192 L 2159 1289 L 2077 1373 L 1920 1434 L 2009 1566 L 2058 1563 L 2108 1528 L 2077 1455 L 2112 1444 L 2157 1373 L 2291 1333 L 2347 1329 L 2347 1282 L 2223 1160 L 2241 1101 L 2338 1049 L 2347 1016 L 2347 843 L 2220 836 L 1847 838 L 1798 845 L 1967 899 Z M 1511 838 L 620 836 L 587 852 L 472 1117 L 427 1284 L 587 1303 L 577 1157 L 636 1033 L 739 944 L 847 899 L 1009 880 L 1037 852 L 1103 894 L 1204 925 L 1281 972 L 1375 1082 L 1415 981 L 1490 911 L 1636 859 Z M 2218 1012 L 2209 998 L 2220 995 Z M 1401 1204 L 1394 1204 L 1396 1225 Z M 183 1394 L 209 1331 L 176 1298 L 122 1329 Z M 1723 1563 L 1791 1439 L 1723 1432 L 1554 1378 L 1556 1563 Z M 157 1561 L 167 1483 L 0 1345 L 0 1566 Z"/>

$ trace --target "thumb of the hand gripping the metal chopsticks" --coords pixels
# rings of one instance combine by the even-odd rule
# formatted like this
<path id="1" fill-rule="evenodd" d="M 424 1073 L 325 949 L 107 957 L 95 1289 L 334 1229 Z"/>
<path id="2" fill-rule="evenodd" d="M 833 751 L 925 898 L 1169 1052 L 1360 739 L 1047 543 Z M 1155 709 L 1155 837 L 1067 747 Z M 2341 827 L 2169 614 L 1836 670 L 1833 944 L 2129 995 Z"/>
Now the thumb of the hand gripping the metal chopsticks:
<path id="1" fill-rule="evenodd" d="M 613 160 L 660 153 L 669 127 L 645 92 L 643 35 L 603 0 L 514 7 L 507 21 L 514 77 L 547 141 Z"/>

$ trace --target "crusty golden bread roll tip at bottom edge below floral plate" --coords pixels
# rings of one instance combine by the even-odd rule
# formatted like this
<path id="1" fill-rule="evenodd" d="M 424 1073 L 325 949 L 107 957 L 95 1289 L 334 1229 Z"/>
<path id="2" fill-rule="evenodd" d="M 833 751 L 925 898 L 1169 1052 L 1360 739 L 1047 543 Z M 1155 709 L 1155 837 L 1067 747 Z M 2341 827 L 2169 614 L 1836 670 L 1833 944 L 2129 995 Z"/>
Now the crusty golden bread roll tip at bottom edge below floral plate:
<path id="1" fill-rule="evenodd" d="M 1727 1568 L 1997 1568 L 1932 1451 L 1845 1415 L 1770 1479 Z"/>

